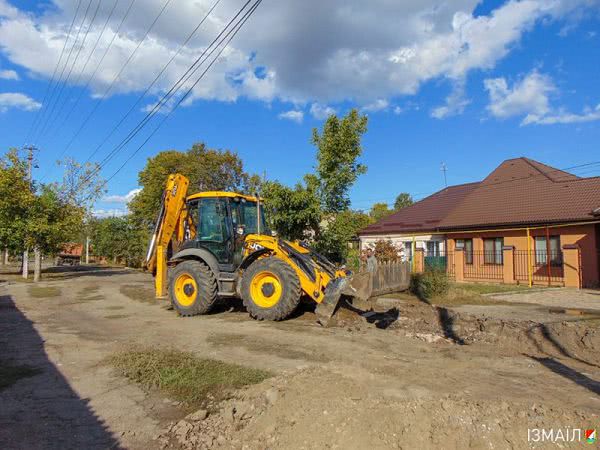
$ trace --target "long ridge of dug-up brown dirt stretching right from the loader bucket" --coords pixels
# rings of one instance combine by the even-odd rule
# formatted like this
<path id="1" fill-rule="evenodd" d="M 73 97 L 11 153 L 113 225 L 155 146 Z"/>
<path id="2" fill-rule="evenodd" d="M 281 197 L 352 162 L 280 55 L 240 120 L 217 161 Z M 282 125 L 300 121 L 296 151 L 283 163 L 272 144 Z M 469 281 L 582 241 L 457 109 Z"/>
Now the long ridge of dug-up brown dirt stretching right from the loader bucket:
<path id="1" fill-rule="evenodd" d="M 429 343 L 490 344 L 501 354 L 568 356 L 600 364 L 600 328 L 588 326 L 585 320 L 551 323 L 505 320 L 405 302 L 366 312 L 343 307 L 336 313 L 332 326 L 349 331 L 375 326 Z"/>

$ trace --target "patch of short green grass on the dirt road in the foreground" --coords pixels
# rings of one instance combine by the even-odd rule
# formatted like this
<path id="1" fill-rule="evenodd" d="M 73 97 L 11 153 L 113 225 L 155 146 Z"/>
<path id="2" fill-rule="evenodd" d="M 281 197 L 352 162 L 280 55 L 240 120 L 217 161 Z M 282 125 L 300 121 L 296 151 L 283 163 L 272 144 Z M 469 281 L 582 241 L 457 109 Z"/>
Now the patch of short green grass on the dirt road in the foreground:
<path id="1" fill-rule="evenodd" d="M 131 350 L 114 355 L 110 362 L 144 388 L 159 389 L 194 407 L 203 406 L 208 394 L 223 399 L 232 389 L 272 376 L 264 370 L 198 358 L 178 350 Z"/>

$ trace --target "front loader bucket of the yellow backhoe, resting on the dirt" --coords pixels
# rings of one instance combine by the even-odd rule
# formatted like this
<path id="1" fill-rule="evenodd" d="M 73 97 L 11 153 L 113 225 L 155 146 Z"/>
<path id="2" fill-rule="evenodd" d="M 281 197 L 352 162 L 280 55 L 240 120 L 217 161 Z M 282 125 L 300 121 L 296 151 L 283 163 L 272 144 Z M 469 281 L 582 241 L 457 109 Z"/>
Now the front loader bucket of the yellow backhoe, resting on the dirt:
<path id="1" fill-rule="evenodd" d="M 315 310 L 317 322 L 324 327 L 329 325 L 342 295 L 364 302 L 371 297 L 372 290 L 373 282 L 370 273 L 336 278 L 327 285 L 323 301 L 317 305 Z"/>

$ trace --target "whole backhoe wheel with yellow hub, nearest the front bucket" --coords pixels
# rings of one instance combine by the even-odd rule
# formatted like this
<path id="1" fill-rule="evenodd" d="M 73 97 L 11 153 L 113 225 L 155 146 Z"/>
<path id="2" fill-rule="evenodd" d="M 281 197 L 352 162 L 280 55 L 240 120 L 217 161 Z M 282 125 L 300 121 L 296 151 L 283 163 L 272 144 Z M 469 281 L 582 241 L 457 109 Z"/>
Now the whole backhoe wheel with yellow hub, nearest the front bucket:
<path id="1" fill-rule="evenodd" d="M 255 261 L 242 276 L 242 300 L 254 319 L 283 320 L 300 303 L 300 280 L 288 264 L 275 258 Z"/>

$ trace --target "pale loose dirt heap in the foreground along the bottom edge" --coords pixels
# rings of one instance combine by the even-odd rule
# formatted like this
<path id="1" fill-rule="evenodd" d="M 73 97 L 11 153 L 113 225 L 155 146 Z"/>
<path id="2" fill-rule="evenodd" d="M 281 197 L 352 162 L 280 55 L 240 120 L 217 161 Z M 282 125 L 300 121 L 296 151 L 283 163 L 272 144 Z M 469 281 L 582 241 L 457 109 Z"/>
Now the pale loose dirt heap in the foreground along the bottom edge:
<path id="1" fill-rule="evenodd" d="M 240 391 L 212 414 L 201 410 L 171 424 L 157 439 L 161 448 L 186 449 L 529 448 L 528 429 L 593 428 L 597 418 L 462 393 L 394 396 L 313 368 Z"/>

